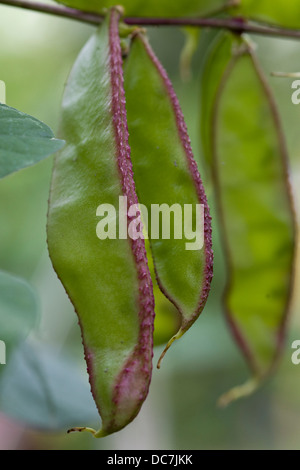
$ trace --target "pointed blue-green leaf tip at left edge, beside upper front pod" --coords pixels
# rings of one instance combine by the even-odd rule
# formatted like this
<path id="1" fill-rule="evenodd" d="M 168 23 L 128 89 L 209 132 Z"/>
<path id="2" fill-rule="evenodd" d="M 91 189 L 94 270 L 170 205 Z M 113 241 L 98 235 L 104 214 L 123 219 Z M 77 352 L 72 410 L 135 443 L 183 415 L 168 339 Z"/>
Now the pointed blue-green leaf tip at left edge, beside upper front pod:
<path id="1" fill-rule="evenodd" d="M 46 124 L 0 103 L 0 178 L 38 163 L 63 145 Z"/>

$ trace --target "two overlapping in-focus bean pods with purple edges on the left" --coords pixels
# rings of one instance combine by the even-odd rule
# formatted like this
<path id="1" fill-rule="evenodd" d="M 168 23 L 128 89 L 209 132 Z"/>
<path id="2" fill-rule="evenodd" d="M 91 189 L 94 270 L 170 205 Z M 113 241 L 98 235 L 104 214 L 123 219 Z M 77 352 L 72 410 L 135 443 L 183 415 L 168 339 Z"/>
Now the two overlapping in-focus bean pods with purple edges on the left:
<path id="1" fill-rule="evenodd" d="M 99 204 L 118 208 L 123 196 L 128 207 L 204 207 L 201 249 L 186 250 L 184 237 L 150 237 L 158 284 L 181 318 L 167 348 L 203 310 L 213 264 L 209 209 L 178 99 L 143 32 L 132 35 L 123 64 L 119 21 L 111 9 L 71 71 L 60 127 L 66 146 L 55 159 L 48 214 L 49 253 L 78 314 L 102 419 L 99 431 L 77 430 L 95 437 L 122 429 L 139 412 L 151 380 L 154 325 L 145 242 L 99 240 Z"/>

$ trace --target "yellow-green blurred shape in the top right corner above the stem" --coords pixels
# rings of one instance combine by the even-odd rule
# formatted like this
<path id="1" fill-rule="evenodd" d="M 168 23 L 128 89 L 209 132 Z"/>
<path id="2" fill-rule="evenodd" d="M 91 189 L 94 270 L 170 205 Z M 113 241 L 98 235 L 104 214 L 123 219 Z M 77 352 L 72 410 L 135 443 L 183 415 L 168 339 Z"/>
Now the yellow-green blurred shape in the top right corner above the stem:
<path id="1" fill-rule="evenodd" d="M 276 26 L 300 28 L 299 0 L 241 0 L 233 14 Z"/>

